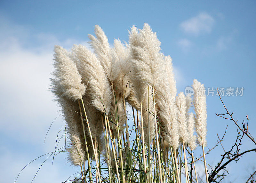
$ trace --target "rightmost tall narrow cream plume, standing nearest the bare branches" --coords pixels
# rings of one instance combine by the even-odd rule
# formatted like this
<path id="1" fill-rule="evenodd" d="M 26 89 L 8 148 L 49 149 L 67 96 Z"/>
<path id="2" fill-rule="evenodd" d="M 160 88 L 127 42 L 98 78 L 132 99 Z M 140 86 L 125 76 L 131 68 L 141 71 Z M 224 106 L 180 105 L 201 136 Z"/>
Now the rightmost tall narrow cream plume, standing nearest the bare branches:
<path id="1" fill-rule="evenodd" d="M 196 79 L 193 80 L 194 89 L 194 98 L 193 98 L 193 105 L 194 105 L 194 111 L 196 113 L 195 115 L 195 122 L 196 122 L 196 133 L 197 133 L 197 140 L 201 146 L 206 146 L 206 119 L 207 119 L 207 113 L 206 113 L 206 96 L 205 96 L 205 88 L 204 84 L 201 84 Z"/>

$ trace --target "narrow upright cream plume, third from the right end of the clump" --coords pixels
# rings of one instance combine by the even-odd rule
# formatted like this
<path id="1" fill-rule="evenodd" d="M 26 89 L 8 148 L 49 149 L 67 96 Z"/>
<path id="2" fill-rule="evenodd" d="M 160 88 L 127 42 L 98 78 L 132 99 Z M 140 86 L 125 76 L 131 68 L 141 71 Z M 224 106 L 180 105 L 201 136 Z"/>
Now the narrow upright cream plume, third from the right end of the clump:
<path id="1" fill-rule="evenodd" d="M 183 92 L 176 97 L 177 117 L 179 122 L 180 138 L 186 143 L 188 142 L 188 126 L 187 126 L 187 100 Z M 181 142 L 182 142 L 181 140 Z"/>

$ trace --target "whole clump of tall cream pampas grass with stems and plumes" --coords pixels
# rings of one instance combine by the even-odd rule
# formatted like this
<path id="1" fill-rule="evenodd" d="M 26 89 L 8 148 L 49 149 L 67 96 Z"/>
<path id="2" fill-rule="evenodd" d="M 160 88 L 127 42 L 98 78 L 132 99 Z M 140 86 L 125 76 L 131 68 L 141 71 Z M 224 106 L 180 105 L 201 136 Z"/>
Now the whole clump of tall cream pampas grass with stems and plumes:
<path id="1" fill-rule="evenodd" d="M 206 146 L 206 98 L 198 92 L 204 85 L 194 80 L 189 114 L 191 98 L 176 96 L 172 59 L 156 33 L 148 24 L 129 33 L 129 44 L 116 39 L 111 48 L 96 25 L 89 35 L 94 53 L 55 47 L 52 92 L 68 125 L 68 159 L 80 166 L 80 182 L 180 183 L 185 169 L 188 183 L 185 149 L 193 156 L 195 129 L 203 154 Z M 205 156 L 204 165 L 208 181 Z"/>

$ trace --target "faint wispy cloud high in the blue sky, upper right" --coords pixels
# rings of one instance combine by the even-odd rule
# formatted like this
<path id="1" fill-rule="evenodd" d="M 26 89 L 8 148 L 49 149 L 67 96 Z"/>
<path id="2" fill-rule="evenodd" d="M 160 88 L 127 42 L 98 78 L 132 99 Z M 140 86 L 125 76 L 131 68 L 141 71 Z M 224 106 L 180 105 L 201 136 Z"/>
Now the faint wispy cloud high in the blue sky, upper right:
<path id="1" fill-rule="evenodd" d="M 200 13 L 180 24 L 180 28 L 189 34 L 199 35 L 200 33 L 210 33 L 215 20 L 207 13 Z"/>

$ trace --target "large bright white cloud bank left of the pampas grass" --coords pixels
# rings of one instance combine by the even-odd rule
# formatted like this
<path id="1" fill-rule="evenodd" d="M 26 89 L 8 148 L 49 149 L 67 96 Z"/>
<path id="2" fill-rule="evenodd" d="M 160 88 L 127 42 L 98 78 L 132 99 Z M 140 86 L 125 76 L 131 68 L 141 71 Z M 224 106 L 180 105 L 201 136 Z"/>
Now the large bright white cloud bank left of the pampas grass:
<path id="1" fill-rule="evenodd" d="M 21 33 L 16 34 L 16 30 L 10 35 L 8 26 L 10 30 L 15 26 L 4 25 L 5 31 L 1 31 L 0 37 L 0 48 L 3 48 L 0 49 L 1 131 L 15 133 L 19 141 L 42 141 L 59 110 L 51 92 L 47 91 L 53 70 L 53 47 L 60 44 L 70 48 L 75 43 L 86 43 L 74 39 L 59 41 L 56 36 L 39 34 L 35 37 L 40 45 L 28 49 L 20 38 L 28 33 L 21 28 Z"/>

